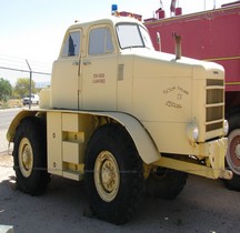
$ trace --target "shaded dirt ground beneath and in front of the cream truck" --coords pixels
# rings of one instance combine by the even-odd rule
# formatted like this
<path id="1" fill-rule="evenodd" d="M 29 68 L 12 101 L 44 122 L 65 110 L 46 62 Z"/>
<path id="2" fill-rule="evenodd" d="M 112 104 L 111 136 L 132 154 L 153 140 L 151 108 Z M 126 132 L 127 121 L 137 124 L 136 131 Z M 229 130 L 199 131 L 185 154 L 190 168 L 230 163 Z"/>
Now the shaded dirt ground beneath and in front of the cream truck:
<path id="1" fill-rule="evenodd" d="M 0 153 L 0 224 L 16 233 L 59 232 L 240 232 L 240 193 L 221 181 L 190 175 L 174 201 L 144 196 L 141 211 L 117 226 L 89 214 L 83 183 L 53 176 L 46 194 L 16 190 L 12 158 Z"/>

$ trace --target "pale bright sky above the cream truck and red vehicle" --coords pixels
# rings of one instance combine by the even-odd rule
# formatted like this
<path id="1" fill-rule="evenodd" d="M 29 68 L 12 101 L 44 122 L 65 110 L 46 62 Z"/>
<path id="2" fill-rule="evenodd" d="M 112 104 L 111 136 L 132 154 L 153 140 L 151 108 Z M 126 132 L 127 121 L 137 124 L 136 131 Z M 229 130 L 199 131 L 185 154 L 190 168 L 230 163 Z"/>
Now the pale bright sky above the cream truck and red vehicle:
<path id="1" fill-rule="evenodd" d="M 183 13 L 210 10 L 234 0 L 179 0 Z M 160 0 L 0 0 L 0 67 L 27 69 L 28 59 L 32 70 L 51 72 L 52 61 L 58 58 L 66 29 L 74 20 L 90 21 L 111 14 L 111 4 L 119 11 L 130 11 L 151 18 L 160 7 Z M 170 16 L 171 0 L 162 0 Z M 0 69 L 0 78 L 14 83 L 28 73 Z M 36 78 L 37 79 L 37 78 Z M 46 79 L 38 77 L 38 79 Z M 36 80 L 39 81 L 39 80 Z"/>

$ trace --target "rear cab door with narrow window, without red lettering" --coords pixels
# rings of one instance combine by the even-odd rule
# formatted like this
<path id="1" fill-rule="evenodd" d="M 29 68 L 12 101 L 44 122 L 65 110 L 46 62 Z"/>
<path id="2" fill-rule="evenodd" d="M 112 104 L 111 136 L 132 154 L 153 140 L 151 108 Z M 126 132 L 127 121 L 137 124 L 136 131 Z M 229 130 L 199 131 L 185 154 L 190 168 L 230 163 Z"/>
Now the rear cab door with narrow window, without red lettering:
<path id="1" fill-rule="evenodd" d="M 52 107 L 79 109 L 81 30 L 68 31 L 52 69 Z"/>

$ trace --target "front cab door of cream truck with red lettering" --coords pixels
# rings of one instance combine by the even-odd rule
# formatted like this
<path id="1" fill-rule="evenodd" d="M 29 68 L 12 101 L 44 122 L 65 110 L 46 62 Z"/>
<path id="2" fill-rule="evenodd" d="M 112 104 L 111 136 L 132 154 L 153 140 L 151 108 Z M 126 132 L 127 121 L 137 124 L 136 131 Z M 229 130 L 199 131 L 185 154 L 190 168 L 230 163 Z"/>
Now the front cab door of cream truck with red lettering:
<path id="1" fill-rule="evenodd" d="M 102 24 L 90 28 L 81 67 L 84 110 L 117 110 L 117 63 L 111 28 Z"/>

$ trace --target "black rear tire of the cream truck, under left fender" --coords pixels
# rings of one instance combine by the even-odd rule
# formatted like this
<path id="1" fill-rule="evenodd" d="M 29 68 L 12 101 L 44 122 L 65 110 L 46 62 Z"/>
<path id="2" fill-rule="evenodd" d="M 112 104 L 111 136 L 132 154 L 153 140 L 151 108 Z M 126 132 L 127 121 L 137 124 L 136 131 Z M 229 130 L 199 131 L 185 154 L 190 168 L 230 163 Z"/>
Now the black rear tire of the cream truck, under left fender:
<path id="1" fill-rule="evenodd" d="M 20 156 L 19 150 L 21 149 L 19 146 L 23 140 L 29 143 L 28 148 L 32 150 L 32 164 L 29 171 L 21 165 L 20 161 L 23 153 Z M 17 188 L 31 195 L 42 194 L 50 181 L 50 174 L 47 172 L 46 125 L 39 118 L 26 118 L 18 125 L 14 136 L 13 162 Z M 28 175 L 22 171 L 27 171 Z"/>

